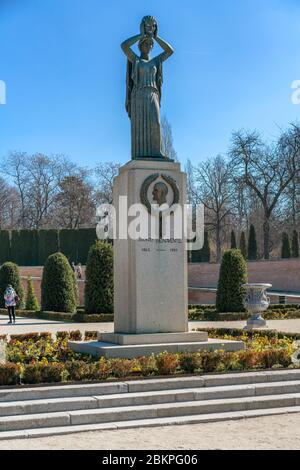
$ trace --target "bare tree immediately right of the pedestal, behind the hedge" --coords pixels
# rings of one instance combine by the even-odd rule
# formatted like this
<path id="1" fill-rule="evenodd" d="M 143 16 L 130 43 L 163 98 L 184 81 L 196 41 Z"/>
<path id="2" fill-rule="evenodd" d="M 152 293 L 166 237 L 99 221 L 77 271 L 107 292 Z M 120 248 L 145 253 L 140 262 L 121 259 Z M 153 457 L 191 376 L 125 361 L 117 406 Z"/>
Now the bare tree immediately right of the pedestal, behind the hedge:
<path id="1" fill-rule="evenodd" d="M 221 156 L 194 168 L 194 200 L 204 204 L 205 225 L 215 235 L 217 262 L 221 260 L 222 239 L 231 213 L 231 173 L 230 164 Z"/>

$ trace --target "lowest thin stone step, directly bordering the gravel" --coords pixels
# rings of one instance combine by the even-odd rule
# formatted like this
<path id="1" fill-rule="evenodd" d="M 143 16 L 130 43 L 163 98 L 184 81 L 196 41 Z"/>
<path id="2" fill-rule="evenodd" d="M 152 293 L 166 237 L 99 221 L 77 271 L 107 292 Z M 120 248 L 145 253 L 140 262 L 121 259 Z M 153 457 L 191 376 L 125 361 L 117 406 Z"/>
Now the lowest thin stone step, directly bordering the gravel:
<path id="1" fill-rule="evenodd" d="M 119 421 L 106 424 L 86 424 L 77 426 L 59 426 L 38 429 L 23 429 L 21 431 L 0 432 L 1 440 L 27 439 L 38 437 L 61 436 L 80 432 L 116 431 L 118 429 L 147 428 L 157 426 L 174 426 L 183 424 L 214 423 L 246 418 L 261 418 L 283 414 L 300 413 L 300 406 L 267 408 L 263 410 L 231 411 L 225 413 L 209 413 L 194 416 L 177 416 L 168 418 Z"/>

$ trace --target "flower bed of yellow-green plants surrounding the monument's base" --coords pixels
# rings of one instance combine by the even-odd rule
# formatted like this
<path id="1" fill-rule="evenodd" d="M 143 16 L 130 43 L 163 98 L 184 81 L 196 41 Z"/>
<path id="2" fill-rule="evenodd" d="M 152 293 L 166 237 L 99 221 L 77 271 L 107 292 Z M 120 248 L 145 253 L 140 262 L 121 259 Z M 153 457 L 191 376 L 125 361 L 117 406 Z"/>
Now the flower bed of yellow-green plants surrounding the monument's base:
<path id="1" fill-rule="evenodd" d="M 96 332 L 86 332 L 94 339 Z M 137 359 L 95 359 L 68 348 L 68 339 L 80 340 L 79 331 L 15 335 L 6 345 L 0 364 L 0 385 L 104 381 L 132 377 L 172 376 L 212 372 L 295 367 L 294 340 L 300 335 L 242 330 L 209 330 L 210 337 L 241 339 L 246 350 L 238 352 L 161 353 Z"/>

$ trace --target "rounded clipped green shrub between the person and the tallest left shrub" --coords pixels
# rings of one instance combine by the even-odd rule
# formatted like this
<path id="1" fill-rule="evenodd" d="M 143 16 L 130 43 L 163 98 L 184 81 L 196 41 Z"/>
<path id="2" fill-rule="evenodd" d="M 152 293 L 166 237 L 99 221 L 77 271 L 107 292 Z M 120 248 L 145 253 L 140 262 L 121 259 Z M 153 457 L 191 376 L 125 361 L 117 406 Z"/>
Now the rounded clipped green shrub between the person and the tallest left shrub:
<path id="1" fill-rule="evenodd" d="M 75 313 L 74 274 L 62 253 L 54 253 L 47 259 L 41 289 L 43 311 Z"/>

